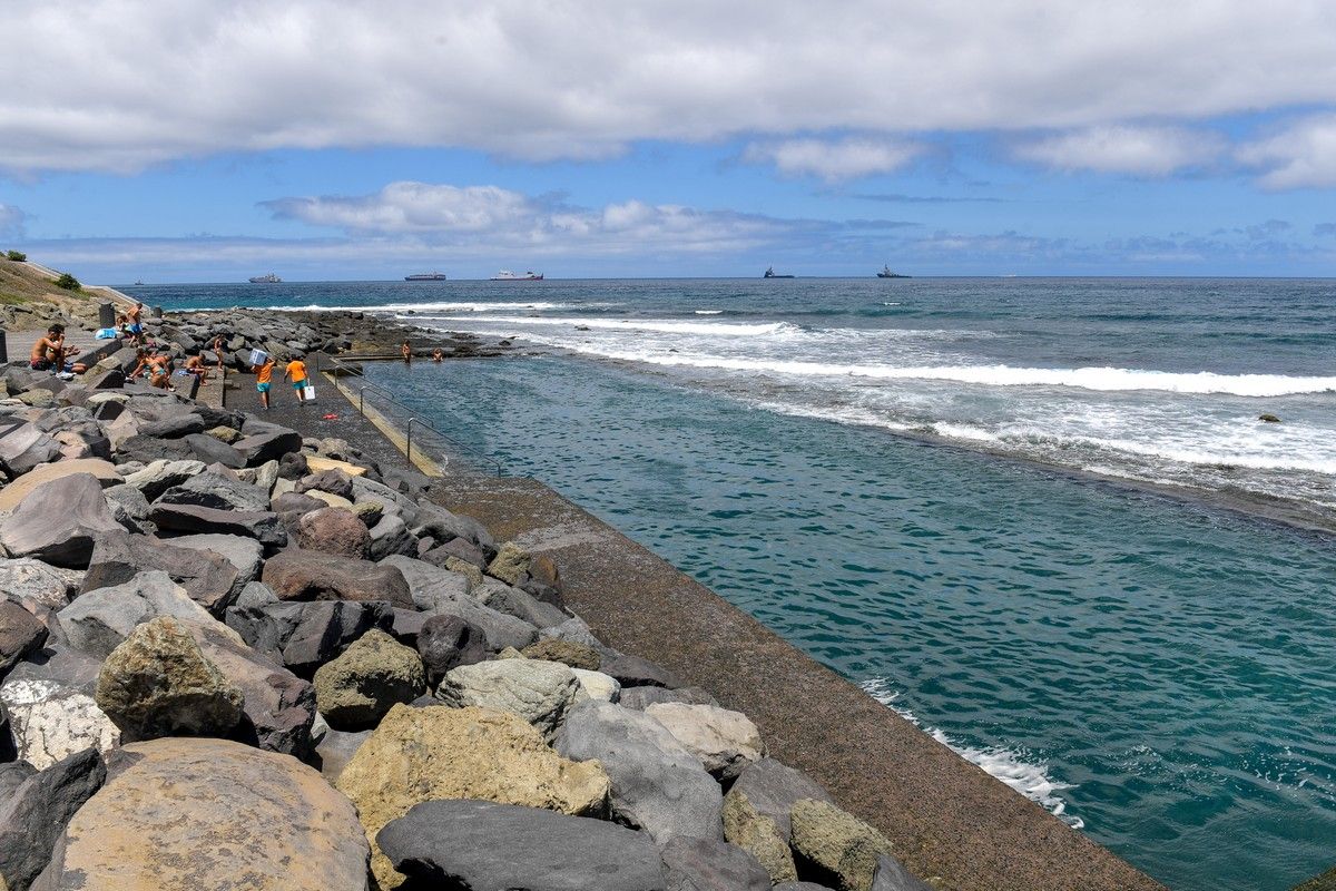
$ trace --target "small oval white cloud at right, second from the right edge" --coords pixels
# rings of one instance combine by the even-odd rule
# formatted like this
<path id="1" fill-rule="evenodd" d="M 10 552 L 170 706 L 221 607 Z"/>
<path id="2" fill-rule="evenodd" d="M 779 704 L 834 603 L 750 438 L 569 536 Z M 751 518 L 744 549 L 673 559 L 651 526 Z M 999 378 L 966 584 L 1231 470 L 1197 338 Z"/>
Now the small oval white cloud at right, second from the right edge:
<path id="1" fill-rule="evenodd" d="M 1109 126 L 1085 127 L 1019 143 L 1013 154 L 1058 170 L 1166 176 L 1185 167 L 1209 163 L 1224 150 L 1224 139 L 1208 131 Z"/>

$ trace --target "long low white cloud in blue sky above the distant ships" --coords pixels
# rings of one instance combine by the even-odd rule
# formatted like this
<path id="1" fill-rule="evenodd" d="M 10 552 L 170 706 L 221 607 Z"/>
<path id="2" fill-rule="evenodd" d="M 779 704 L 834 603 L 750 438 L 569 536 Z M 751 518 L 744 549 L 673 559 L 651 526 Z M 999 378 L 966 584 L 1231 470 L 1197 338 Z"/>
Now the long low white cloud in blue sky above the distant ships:
<path id="1" fill-rule="evenodd" d="M 452 250 L 538 254 L 745 250 L 802 222 L 640 200 L 601 208 L 557 204 L 497 186 L 390 183 L 371 195 L 282 198 L 275 216 L 358 236 L 411 236 Z"/>

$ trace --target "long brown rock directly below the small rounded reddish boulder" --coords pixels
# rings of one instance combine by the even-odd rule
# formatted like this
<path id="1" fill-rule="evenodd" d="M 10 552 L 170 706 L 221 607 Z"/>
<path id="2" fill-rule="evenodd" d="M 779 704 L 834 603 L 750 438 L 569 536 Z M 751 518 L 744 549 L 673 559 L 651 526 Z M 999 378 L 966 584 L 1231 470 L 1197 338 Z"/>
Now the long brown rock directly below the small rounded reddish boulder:
<path id="1" fill-rule="evenodd" d="M 413 606 L 409 585 L 393 564 L 289 549 L 265 564 L 261 580 L 281 600 L 383 600 Z"/>

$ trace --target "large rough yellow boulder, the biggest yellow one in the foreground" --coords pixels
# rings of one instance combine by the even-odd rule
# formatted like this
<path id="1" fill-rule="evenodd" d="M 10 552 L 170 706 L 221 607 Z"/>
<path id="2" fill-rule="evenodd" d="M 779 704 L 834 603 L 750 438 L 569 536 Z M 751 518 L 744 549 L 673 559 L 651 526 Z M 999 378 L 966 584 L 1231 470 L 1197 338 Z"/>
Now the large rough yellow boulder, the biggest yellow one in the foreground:
<path id="1" fill-rule="evenodd" d="M 484 708 L 395 705 L 343 768 L 338 788 L 373 842 L 382 888 L 402 882 L 375 835 L 414 804 L 478 799 L 577 816 L 603 816 L 608 776 L 558 757 L 524 719 Z"/>

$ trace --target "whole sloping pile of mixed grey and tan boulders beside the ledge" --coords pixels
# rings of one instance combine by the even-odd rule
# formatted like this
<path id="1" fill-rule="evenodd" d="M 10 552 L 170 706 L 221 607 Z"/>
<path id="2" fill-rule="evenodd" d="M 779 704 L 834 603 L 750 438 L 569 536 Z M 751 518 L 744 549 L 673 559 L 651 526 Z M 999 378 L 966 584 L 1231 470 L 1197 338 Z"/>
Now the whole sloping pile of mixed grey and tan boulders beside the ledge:
<path id="1" fill-rule="evenodd" d="M 927 887 L 415 473 L 3 381 L 0 887 Z"/>

